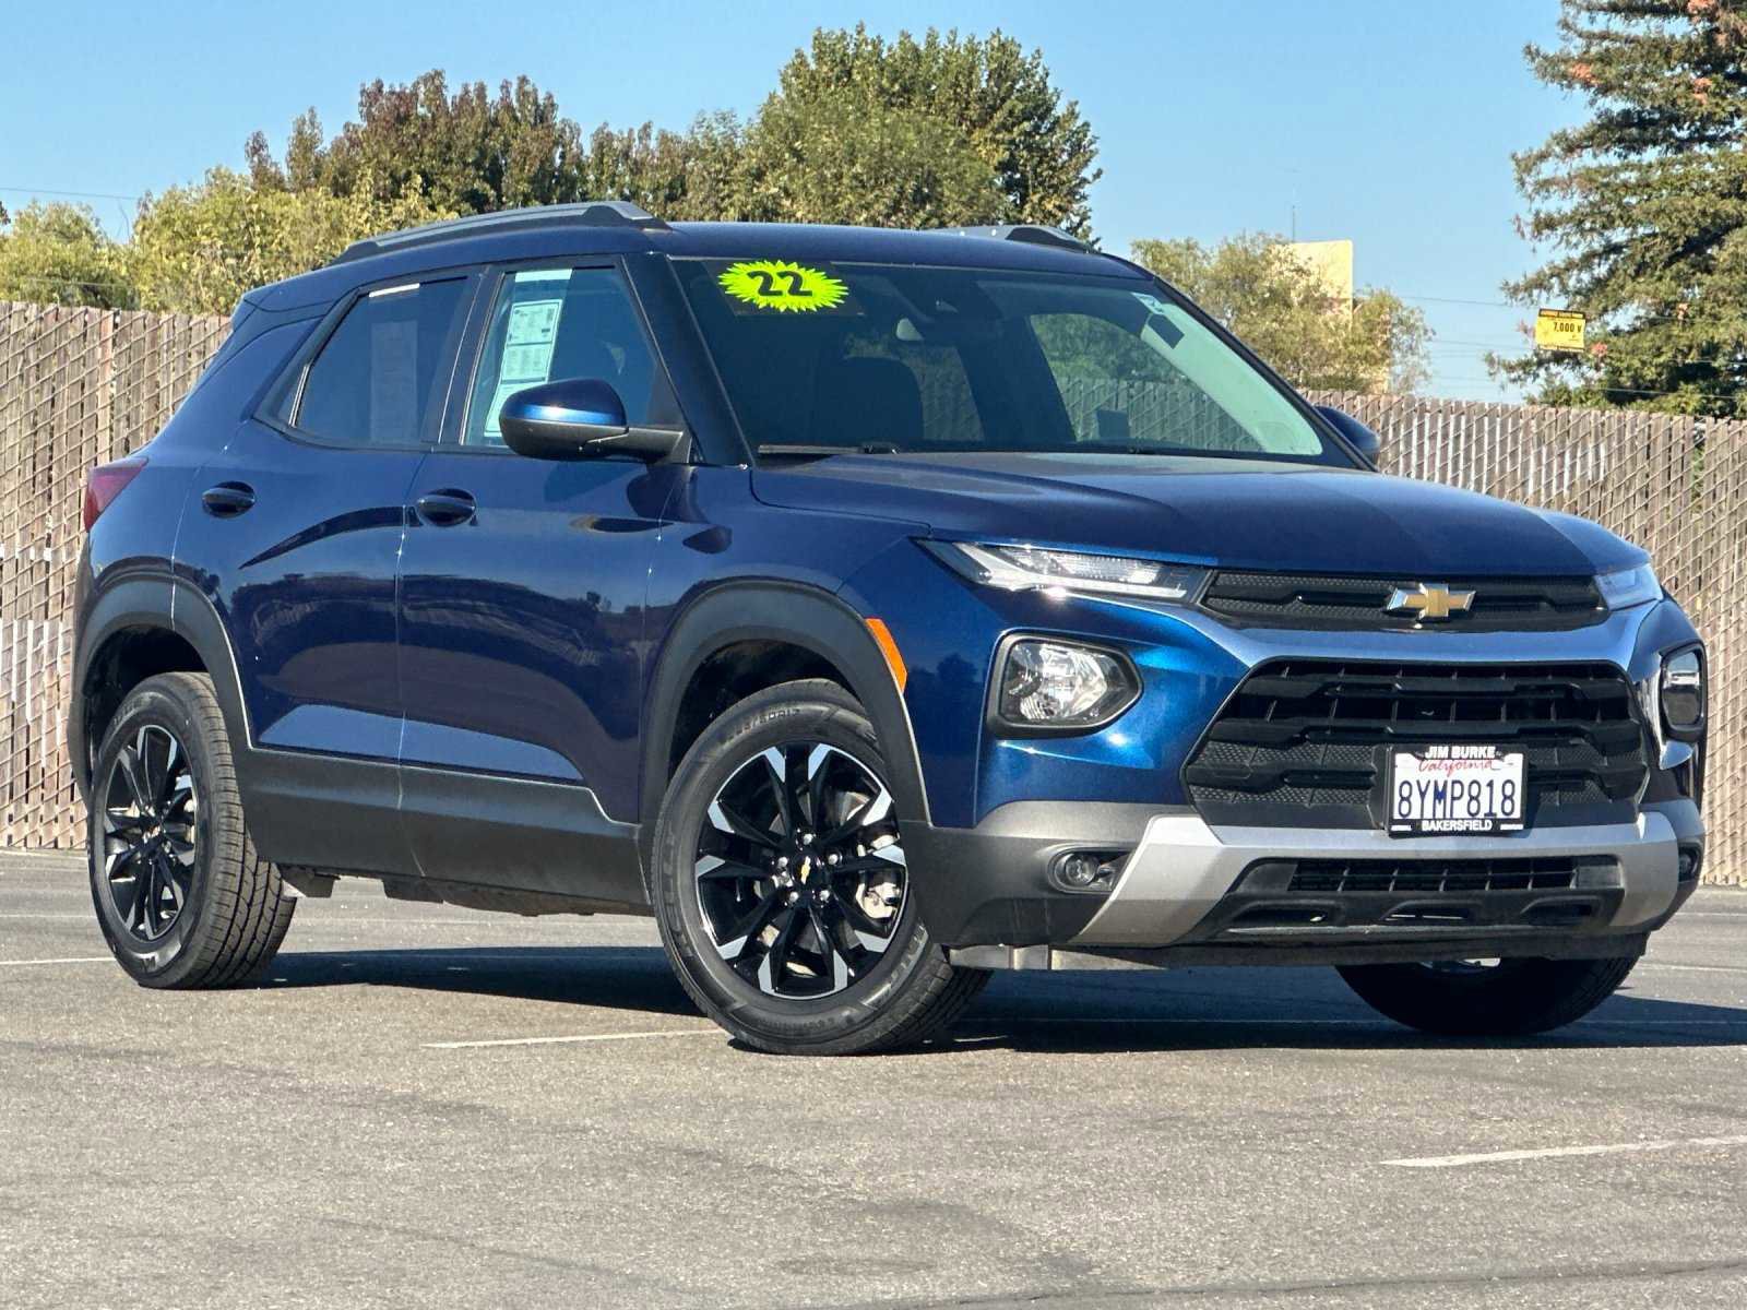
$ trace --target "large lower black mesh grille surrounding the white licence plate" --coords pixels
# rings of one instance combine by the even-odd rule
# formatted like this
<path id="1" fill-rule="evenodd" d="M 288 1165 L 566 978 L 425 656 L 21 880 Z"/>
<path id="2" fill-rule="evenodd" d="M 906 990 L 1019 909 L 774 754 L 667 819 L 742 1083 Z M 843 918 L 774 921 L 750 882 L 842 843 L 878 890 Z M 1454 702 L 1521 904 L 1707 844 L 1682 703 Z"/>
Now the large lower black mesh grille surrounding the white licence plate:
<path id="1" fill-rule="evenodd" d="M 1525 753 L 1530 824 L 1628 819 L 1649 776 L 1637 697 L 1607 664 L 1275 660 L 1209 725 L 1183 784 L 1212 824 L 1371 828 L 1394 746 Z"/>

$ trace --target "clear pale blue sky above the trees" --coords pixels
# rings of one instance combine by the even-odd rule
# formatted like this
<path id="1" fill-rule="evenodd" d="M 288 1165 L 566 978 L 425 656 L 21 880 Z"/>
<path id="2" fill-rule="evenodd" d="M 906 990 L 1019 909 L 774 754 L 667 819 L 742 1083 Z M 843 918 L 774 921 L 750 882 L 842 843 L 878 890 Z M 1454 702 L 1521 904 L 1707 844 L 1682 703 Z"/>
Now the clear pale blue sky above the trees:
<path id="1" fill-rule="evenodd" d="M 1043 49 L 1101 138 L 1108 248 L 1286 232 L 1296 206 L 1302 239 L 1352 238 L 1359 281 L 1426 311 L 1429 390 L 1499 398 L 1481 355 L 1511 348 L 1525 316 L 1497 304 L 1499 283 L 1536 262 L 1511 229 L 1509 154 L 1581 110 L 1522 61 L 1555 17 L 1557 0 L 16 5 L 0 201 L 93 192 L 124 229 L 142 192 L 241 166 L 255 128 L 278 145 L 309 105 L 339 128 L 376 77 L 526 72 L 585 128 L 683 128 L 755 110 L 819 24 L 1001 26 Z"/>

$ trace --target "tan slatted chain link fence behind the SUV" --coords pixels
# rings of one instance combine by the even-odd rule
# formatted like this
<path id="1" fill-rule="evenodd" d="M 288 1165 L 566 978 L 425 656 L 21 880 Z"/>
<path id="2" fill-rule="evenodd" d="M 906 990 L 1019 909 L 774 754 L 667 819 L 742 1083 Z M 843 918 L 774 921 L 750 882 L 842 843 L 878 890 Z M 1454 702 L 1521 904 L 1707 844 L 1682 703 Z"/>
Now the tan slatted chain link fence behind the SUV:
<path id="1" fill-rule="evenodd" d="M 222 318 L 0 304 L 0 845 L 82 840 L 63 720 L 84 473 L 164 424 L 225 328 Z M 1066 398 L 1076 430 L 1094 437 L 1193 435 L 1223 417 L 1158 383 L 1073 379 Z M 1385 472 L 1595 519 L 1654 555 L 1710 648 L 1705 877 L 1747 880 L 1747 421 L 1314 400 L 1382 433 Z"/>

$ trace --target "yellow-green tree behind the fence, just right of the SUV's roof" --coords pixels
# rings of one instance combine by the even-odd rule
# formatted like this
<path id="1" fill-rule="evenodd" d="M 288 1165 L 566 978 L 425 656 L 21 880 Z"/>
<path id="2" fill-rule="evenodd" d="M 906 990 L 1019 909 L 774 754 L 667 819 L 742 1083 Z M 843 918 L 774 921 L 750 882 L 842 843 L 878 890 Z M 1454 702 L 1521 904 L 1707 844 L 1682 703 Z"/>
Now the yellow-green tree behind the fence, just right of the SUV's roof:
<path id="1" fill-rule="evenodd" d="M 1366 288 L 1350 306 L 1277 236 L 1136 241 L 1134 259 L 1195 300 L 1295 386 L 1413 391 L 1426 381 L 1426 316 Z"/>

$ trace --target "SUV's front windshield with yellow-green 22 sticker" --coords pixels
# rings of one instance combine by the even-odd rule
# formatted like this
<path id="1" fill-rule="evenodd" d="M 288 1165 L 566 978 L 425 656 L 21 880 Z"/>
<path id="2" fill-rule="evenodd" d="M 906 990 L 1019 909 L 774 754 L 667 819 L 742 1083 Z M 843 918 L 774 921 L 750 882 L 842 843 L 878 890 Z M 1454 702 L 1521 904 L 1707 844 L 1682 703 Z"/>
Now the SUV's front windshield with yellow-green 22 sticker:
<path id="1" fill-rule="evenodd" d="M 1132 452 L 1352 466 L 1162 288 L 926 265 L 676 260 L 765 459 Z"/>

